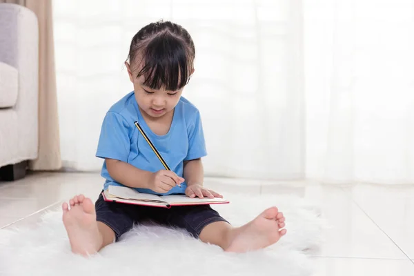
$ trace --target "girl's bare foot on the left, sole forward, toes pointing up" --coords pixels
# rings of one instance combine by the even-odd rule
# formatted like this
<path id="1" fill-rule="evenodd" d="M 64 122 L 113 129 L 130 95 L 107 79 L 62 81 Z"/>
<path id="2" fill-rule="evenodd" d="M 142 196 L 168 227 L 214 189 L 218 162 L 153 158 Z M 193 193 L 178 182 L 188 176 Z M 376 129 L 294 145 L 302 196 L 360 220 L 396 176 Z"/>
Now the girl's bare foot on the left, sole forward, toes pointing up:
<path id="1" fill-rule="evenodd" d="M 102 237 L 97 226 L 95 206 L 89 198 L 77 195 L 62 204 L 63 224 L 73 253 L 91 255 L 101 248 Z"/>

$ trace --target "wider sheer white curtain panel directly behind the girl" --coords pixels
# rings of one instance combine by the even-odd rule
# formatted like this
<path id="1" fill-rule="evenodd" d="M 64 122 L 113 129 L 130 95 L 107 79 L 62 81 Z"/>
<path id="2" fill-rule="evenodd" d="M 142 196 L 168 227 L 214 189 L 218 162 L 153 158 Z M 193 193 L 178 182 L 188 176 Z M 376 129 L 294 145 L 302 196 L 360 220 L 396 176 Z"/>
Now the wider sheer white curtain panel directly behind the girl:
<path id="1" fill-rule="evenodd" d="M 159 19 L 195 41 L 184 97 L 199 108 L 206 174 L 303 174 L 299 2 L 54 1 L 63 166 L 96 170 L 101 121 L 132 90 L 123 63 L 132 36 Z"/>

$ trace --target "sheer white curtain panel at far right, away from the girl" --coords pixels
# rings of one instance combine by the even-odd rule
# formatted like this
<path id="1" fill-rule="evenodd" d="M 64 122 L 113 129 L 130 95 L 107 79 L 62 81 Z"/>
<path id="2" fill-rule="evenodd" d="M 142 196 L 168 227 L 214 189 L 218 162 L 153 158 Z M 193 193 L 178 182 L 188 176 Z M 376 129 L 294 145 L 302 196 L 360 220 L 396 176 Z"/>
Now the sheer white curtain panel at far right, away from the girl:
<path id="1" fill-rule="evenodd" d="M 414 182 L 414 1 L 304 1 L 306 176 Z"/>

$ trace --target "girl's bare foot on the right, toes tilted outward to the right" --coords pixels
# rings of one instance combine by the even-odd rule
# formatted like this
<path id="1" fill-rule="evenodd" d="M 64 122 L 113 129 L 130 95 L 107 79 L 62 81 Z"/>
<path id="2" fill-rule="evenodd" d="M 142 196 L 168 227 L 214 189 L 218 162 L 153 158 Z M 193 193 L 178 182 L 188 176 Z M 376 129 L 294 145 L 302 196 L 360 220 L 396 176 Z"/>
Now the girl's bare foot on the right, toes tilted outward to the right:
<path id="1" fill-rule="evenodd" d="M 276 207 L 268 208 L 253 221 L 235 228 L 228 252 L 246 252 L 265 248 L 279 241 L 286 234 L 284 215 Z"/>

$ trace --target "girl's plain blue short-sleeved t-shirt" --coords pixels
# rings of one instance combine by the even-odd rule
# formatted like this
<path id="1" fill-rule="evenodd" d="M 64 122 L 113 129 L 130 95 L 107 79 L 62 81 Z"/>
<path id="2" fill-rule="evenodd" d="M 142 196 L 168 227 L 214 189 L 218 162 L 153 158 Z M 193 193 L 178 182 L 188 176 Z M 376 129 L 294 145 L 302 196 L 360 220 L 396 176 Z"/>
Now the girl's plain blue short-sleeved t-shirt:
<path id="1" fill-rule="evenodd" d="M 199 110 L 190 101 L 181 97 L 174 109 L 170 130 L 166 135 L 156 135 L 150 130 L 141 115 L 132 91 L 115 103 L 106 113 L 101 127 L 97 157 L 124 161 L 141 170 L 157 172 L 165 170 L 161 161 L 141 135 L 135 121 L 144 130 L 152 144 L 159 151 L 168 166 L 179 177 L 183 177 L 183 161 L 197 159 L 207 155 L 204 133 L 201 126 Z M 122 186 L 110 177 L 103 161 L 101 176 L 106 179 L 103 189 L 108 186 Z M 150 189 L 137 188 L 141 193 L 170 195 L 184 193 L 186 182 L 175 186 L 168 193 L 156 193 Z"/>

